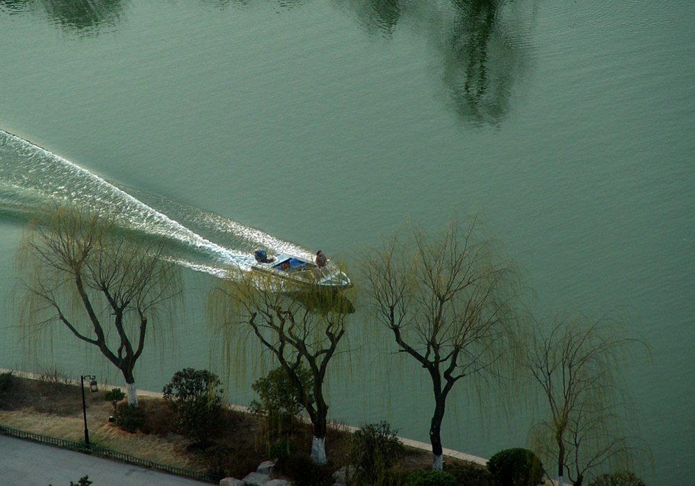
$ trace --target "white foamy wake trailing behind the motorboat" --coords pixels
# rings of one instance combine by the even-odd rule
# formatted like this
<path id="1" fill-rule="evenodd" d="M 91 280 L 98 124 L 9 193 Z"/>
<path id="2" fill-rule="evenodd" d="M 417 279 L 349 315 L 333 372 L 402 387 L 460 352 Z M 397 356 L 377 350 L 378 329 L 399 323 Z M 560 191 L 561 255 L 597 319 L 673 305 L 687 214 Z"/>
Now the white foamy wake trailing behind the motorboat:
<path id="1" fill-rule="evenodd" d="M 253 249 L 300 255 L 309 252 L 220 215 L 117 187 L 16 135 L 0 130 L 0 216 L 28 220 L 50 201 L 86 204 L 110 212 L 124 228 L 164 237 L 176 261 L 195 271 L 224 276 L 250 269 Z"/>

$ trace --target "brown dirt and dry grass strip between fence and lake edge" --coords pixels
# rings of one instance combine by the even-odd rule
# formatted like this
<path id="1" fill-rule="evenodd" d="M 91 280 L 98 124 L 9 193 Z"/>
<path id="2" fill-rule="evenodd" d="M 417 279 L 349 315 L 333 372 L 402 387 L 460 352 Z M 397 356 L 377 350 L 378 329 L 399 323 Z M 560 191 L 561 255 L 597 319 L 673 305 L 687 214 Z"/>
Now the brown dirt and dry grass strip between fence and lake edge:
<path id="1" fill-rule="evenodd" d="M 0 390 L 1 392 L 1 390 Z M 258 464 L 268 459 L 268 446 L 278 433 L 259 428 L 252 414 L 226 411 L 221 434 L 215 446 L 200 451 L 175 432 L 174 415 L 163 399 L 139 397 L 147 421 L 138 433 L 128 433 L 109 421 L 115 411 L 104 400 L 104 392 L 85 389 L 85 403 L 90 442 L 137 458 L 169 464 L 183 469 L 205 471 L 221 476 L 243 478 Z M 42 380 L 13 377 L 12 385 L 0 393 L 0 424 L 32 433 L 84 440 L 82 396 L 79 386 L 67 380 L 48 377 Z M 326 437 L 329 458 L 345 457 L 348 433 L 330 430 Z M 293 441 L 298 451 L 311 451 L 311 429 L 297 426 Z M 407 470 L 431 466 L 427 451 L 408 449 L 401 467 Z M 336 464 L 340 467 L 341 464 Z M 337 468 L 336 468 L 337 469 Z"/>

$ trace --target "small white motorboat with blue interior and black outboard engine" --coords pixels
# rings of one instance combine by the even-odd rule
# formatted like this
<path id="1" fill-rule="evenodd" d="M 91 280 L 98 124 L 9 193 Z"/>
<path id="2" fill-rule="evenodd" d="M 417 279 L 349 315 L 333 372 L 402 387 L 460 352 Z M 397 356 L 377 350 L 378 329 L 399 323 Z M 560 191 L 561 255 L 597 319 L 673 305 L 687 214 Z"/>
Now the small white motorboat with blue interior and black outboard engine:
<path id="1" fill-rule="evenodd" d="M 268 257 L 263 250 L 254 252 L 254 260 L 251 265 L 253 270 L 277 276 L 303 287 L 341 289 L 352 286 L 350 278 L 331 260 L 319 267 L 310 258 L 289 253 L 276 253 L 275 256 Z"/>

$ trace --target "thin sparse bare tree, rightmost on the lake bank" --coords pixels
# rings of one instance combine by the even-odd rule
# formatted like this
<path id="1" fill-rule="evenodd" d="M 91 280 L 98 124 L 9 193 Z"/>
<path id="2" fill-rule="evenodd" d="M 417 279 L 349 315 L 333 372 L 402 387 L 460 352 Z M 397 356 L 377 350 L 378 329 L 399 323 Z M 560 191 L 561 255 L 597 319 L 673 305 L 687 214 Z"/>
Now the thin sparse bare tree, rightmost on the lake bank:
<path id="1" fill-rule="evenodd" d="M 549 332 L 538 326 L 527 364 L 548 403 L 548 418 L 534 427 L 541 453 L 557 461 L 581 486 L 591 470 L 626 467 L 646 448 L 624 435 L 621 411 L 628 403 L 620 383 L 621 358 L 639 341 L 608 317 L 592 321 L 578 312 L 555 317 Z"/>

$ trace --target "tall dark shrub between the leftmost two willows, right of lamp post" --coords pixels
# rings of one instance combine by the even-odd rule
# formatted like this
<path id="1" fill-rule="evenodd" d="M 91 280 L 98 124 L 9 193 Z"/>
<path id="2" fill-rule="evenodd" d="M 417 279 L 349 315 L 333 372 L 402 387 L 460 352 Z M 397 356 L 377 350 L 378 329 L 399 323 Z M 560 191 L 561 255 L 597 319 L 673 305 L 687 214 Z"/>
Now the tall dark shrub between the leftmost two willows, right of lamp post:
<path id="1" fill-rule="evenodd" d="M 177 414 L 177 430 L 203 449 L 220 430 L 220 385 L 218 376 L 206 369 L 185 368 L 163 388 L 164 398 Z"/>

